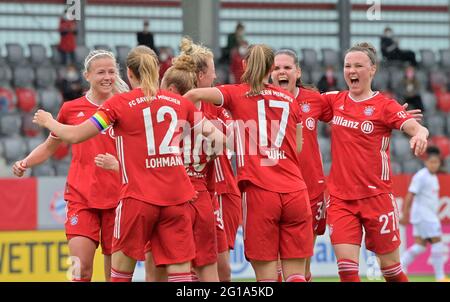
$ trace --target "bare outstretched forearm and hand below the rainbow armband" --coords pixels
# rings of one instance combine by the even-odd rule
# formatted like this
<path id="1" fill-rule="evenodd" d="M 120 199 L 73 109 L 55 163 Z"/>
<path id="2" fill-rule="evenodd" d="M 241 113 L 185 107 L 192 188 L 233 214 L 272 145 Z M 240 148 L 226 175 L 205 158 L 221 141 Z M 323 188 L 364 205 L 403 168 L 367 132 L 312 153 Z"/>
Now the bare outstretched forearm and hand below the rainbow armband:
<path id="1" fill-rule="evenodd" d="M 50 113 L 44 110 L 38 110 L 34 114 L 33 123 L 47 128 L 60 139 L 70 144 L 81 143 L 100 132 L 89 120 L 76 126 L 64 125 L 56 121 Z"/>

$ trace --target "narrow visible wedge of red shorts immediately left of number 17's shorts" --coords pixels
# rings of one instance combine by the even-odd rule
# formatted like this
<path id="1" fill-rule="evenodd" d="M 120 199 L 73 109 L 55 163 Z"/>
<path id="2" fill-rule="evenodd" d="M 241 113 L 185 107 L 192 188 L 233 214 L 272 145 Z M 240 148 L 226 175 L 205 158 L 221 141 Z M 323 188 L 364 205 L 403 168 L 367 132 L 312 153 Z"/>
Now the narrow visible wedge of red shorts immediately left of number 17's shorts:
<path id="1" fill-rule="evenodd" d="M 217 196 L 219 206 L 222 209 L 225 233 L 228 240 L 228 248 L 234 249 L 236 233 L 242 221 L 241 197 L 234 194 L 221 194 Z"/>

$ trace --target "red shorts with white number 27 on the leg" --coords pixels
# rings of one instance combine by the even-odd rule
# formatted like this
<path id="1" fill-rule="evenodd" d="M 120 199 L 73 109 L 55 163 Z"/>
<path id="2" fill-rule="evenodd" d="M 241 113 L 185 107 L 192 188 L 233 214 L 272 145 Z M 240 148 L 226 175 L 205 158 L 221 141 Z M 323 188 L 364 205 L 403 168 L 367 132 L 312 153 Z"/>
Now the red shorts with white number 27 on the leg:
<path id="1" fill-rule="evenodd" d="M 327 215 L 333 245 L 361 245 L 364 228 L 366 248 L 375 254 L 387 254 L 400 246 L 399 214 L 392 194 L 358 200 L 331 196 Z"/>

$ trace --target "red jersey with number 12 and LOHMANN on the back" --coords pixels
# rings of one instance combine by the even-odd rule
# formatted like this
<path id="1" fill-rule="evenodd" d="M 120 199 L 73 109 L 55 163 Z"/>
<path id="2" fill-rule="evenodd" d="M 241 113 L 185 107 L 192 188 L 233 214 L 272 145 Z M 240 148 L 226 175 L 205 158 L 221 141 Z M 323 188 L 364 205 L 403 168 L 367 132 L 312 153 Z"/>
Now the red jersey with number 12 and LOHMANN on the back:
<path id="1" fill-rule="evenodd" d="M 201 124 L 196 112 L 190 101 L 165 90 L 149 99 L 137 88 L 103 104 L 91 121 L 99 129 L 113 125 L 123 183 L 121 198 L 170 206 L 194 197 L 180 144 L 191 126 Z"/>

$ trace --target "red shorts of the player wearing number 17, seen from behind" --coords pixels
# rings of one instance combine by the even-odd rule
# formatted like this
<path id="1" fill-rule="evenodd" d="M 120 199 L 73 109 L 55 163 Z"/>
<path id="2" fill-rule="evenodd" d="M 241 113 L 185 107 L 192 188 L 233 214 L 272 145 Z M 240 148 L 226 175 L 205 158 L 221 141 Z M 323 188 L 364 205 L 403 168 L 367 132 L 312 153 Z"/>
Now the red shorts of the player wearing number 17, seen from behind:
<path id="1" fill-rule="evenodd" d="M 242 193 L 245 257 L 276 261 L 313 255 L 312 215 L 307 190 L 266 191 L 249 184 Z"/>

